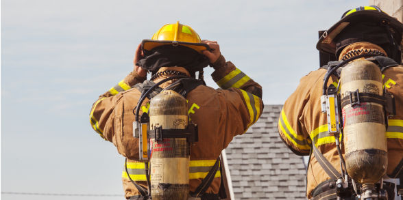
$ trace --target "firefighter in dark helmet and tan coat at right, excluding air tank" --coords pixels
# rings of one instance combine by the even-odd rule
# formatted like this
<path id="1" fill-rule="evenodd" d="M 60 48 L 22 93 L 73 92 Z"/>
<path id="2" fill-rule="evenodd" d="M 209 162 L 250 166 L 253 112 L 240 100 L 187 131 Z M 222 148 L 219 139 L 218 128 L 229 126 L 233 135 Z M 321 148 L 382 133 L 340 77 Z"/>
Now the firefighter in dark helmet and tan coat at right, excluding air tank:
<path id="1" fill-rule="evenodd" d="M 395 97 L 395 115 L 387 120 L 386 173 L 389 178 L 400 178 L 400 184 L 403 183 L 402 32 L 403 25 L 398 20 L 376 6 L 365 6 L 345 12 L 341 20 L 319 39 L 317 49 L 335 55 L 337 60 L 301 78 L 300 85 L 284 103 L 278 122 L 280 137 L 291 151 L 300 156 L 310 156 L 306 177 L 308 199 L 336 199 L 335 181 L 341 174 L 341 158 L 337 152 L 336 140 L 328 131 L 326 114 L 321 113 L 323 77 L 329 66 L 366 53 L 379 55 L 377 60 L 382 67 L 383 87 Z M 361 59 L 365 59 L 365 56 Z M 330 76 L 328 87 L 337 87 L 338 72 L 340 71 Z M 343 134 L 341 152 L 345 156 L 342 141 Z M 326 158 L 329 165 L 337 170 L 334 175 L 328 175 L 328 169 L 323 169 L 320 163 L 323 159 L 315 156 L 313 145 L 319 149 L 322 158 Z M 349 199 L 347 196 L 349 195 L 343 198 Z"/>

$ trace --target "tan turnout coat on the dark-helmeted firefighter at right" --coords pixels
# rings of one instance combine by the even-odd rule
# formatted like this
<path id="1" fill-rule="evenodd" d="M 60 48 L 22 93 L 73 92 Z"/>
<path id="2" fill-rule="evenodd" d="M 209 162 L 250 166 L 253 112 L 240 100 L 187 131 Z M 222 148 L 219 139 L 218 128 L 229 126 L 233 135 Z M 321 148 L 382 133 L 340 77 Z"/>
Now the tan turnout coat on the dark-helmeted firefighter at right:
<path id="1" fill-rule="evenodd" d="M 378 48 L 374 44 L 356 44 L 345 52 L 354 49 Z M 342 57 L 341 55 L 340 57 Z M 333 167 L 340 172 L 340 160 L 334 144 L 334 137 L 330 136 L 327 127 L 326 114 L 321 113 L 320 97 L 322 93 L 323 76 L 325 69 L 310 72 L 300 80 L 300 85 L 286 100 L 278 122 L 280 137 L 295 154 L 308 156 L 311 145 L 316 145 L 319 151 Z M 389 118 L 387 129 L 388 168 L 390 175 L 403 158 L 403 66 L 387 68 L 383 71 L 383 87 L 386 87 L 395 96 L 396 115 Z M 328 85 L 337 84 L 338 79 L 332 76 Z M 341 144 L 344 154 L 344 145 Z M 401 169 L 402 170 L 402 169 Z M 315 156 L 310 155 L 307 171 L 306 195 L 311 198 L 310 192 L 330 177 L 321 168 Z"/>

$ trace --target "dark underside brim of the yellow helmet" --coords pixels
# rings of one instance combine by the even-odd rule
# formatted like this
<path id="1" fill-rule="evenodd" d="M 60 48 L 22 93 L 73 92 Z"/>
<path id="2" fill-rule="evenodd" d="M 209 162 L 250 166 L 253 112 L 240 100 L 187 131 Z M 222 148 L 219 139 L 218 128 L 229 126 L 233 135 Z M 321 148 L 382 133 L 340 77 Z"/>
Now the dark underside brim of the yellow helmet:
<path id="1" fill-rule="evenodd" d="M 172 46 L 186 46 L 192 48 L 198 53 L 202 54 L 203 51 L 210 51 L 210 46 L 204 43 L 191 43 L 191 42 L 179 42 L 179 41 L 169 41 L 169 40 L 143 40 L 141 42 L 141 48 L 146 51 L 151 51 L 153 48 L 162 45 L 172 45 Z"/>

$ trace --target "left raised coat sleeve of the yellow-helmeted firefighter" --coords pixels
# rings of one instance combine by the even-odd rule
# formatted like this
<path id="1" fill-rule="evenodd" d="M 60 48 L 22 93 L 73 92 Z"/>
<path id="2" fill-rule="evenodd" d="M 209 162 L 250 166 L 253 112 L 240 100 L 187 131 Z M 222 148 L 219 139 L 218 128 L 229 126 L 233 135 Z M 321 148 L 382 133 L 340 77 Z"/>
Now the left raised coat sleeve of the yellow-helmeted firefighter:
<path id="1" fill-rule="evenodd" d="M 103 139 L 112 142 L 112 135 L 106 137 L 105 130 L 108 129 L 108 133 L 112 134 L 112 112 L 114 106 L 117 104 L 121 96 L 117 95 L 122 91 L 130 89 L 137 83 L 145 81 L 144 77 L 138 76 L 135 71 L 128 74 L 122 81 L 120 81 L 114 87 L 111 87 L 104 94 L 99 96 L 98 100 L 94 102 L 90 111 L 90 124 Z"/>

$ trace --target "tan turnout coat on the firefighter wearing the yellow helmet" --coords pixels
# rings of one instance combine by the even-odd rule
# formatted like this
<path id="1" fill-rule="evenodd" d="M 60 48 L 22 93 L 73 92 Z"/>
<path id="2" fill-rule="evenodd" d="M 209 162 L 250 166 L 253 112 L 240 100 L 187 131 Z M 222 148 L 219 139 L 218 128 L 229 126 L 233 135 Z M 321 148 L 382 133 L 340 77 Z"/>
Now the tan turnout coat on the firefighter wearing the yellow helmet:
<path id="1" fill-rule="evenodd" d="M 225 62 L 222 56 L 213 65 L 217 70 L 212 78 L 221 89 L 199 85 L 187 95 L 188 115 L 191 122 L 199 127 L 199 141 L 191 146 L 191 191 L 199 186 L 232 138 L 243 134 L 254 124 L 263 109 L 262 90 L 258 83 L 231 62 Z M 138 139 L 132 133 L 133 109 L 141 96 L 141 91 L 132 86 L 143 81 L 144 78 L 132 72 L 117 86 L 99 96 L 90 111 L 90 121 L 103 139 L 112 142 L 119 154 L 128 158 L 127 169 L 132 180 L 146 186 L 144 165 L 138 162 Z M 142 111 L 147 111 L 147 101 L 143 102 Z M 218 193 L 220 177 L 218 171 L 206 192 Z M 125 171 L 122 180 L 126 198 L 139 195 Z"/>

